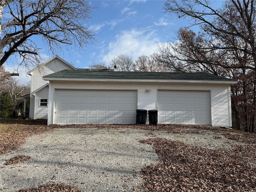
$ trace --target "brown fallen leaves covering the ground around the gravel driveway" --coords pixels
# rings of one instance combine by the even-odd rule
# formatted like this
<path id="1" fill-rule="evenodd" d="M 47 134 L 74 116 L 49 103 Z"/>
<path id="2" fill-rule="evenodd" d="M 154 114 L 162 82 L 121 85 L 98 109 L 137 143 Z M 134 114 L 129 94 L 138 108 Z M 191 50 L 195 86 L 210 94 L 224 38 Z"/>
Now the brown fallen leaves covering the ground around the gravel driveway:
<path id="1" fill-rule="evenodd" d="M 0 154 L 15 150 L 24 144 L 26 137 L 55 128 L 133 128 L 146 130 L 168 130 L 172 133 L 198 133 L 210 130 L 226 138 L 241 142 L 232 150 L 210 150 L 190 146 L 181 142 L 152 138 L 143 140 L 151 144 L 160 157 L 157 164 L 142 169 L 144 191 L 256 191 L 256 134 L 212 128 L 209 126 L 187 125 L 46 125 L 46 120 L 1 120 Z M 193 129 L 191 129 L 193 128 Z M 191 130 L 193 130 L 191 132 Z M 216 140 L 220 139 L 216 136 Z M 8 163 L 27 160 L 28 156 L 16 156 Z M 82 190 L 63 184 L 44 184 L 20 192 L 65 192 Z"/>

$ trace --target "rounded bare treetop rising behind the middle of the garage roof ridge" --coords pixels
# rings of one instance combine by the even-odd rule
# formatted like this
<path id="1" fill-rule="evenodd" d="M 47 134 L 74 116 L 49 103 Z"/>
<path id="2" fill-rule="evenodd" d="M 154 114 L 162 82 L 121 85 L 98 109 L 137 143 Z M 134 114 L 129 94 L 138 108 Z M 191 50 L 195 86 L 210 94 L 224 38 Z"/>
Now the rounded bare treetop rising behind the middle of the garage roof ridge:
<path id="1" fill-rule="evenodd" d="M 117 71 L 132 71 L 134 61 L 132 56 L 120 54 L 114 57 L 110 62 L 110 68 L 115 68 Z"/>

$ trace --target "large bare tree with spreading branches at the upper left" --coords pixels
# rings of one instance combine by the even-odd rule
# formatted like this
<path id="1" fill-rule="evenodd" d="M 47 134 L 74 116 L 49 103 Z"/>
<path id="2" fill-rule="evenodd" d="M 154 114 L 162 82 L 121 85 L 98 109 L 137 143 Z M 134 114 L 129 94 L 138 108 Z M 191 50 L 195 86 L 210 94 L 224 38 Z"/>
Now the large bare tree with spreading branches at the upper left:
<path id="1" fill-rule="evenodd" d="M 1 0 L 0 65 L 15 55 L 27 70 L 29 63 L 38 66 L 41 58 L 35 36 L 53 53 L 62 50 L 63 44 L 84 50 L 94 40 L 85 26 L 93 8 L 87 0 Z"/>

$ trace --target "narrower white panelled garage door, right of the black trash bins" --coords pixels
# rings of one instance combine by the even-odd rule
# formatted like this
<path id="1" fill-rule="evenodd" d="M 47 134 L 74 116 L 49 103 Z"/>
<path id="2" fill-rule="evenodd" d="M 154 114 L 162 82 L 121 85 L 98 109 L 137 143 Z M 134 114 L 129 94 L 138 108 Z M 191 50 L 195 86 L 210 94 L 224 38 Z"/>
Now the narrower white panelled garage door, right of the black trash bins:
<path id="1" fill-rule="evenodd" d="M 210 92 L 159 90 L 158 122 L 210 125 Z"/>

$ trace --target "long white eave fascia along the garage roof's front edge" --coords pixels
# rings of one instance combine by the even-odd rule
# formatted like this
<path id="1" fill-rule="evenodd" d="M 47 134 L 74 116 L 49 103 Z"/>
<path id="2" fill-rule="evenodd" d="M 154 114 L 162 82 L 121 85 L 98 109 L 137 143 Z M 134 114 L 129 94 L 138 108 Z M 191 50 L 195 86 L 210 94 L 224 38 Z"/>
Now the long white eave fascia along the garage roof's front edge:
<path id="1" fill-rule="evenodd" d="M 220 81 L 220 80 L 168 80 L 168 79 L 94 79 L 94 78 L 57 78 L 43 77 L 43 80 L 49 81 L 84 81 L 84 82 L 160 82 L 160 83 L 213 83 L 213 84 L 237 84 L 238 81 Z"/>

